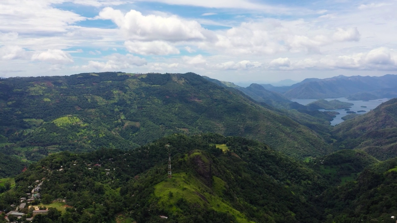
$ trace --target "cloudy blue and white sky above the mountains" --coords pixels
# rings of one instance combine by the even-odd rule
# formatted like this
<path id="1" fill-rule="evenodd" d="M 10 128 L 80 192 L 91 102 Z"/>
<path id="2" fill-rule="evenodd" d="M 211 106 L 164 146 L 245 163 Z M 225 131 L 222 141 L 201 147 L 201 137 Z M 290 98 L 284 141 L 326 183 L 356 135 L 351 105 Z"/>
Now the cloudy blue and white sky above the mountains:
<path id="1" fill-rule="evenodd" d="M 0 77 L 397 74 L 395 0 L 1 0 Z"/>

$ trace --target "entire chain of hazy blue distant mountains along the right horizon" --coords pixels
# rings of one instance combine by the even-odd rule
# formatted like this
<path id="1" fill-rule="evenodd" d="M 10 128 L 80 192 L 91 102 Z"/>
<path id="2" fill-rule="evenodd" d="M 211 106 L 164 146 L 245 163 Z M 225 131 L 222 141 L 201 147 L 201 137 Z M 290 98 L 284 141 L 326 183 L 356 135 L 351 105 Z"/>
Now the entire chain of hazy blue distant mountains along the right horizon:
<path id="1" fill-rule="evenodd" d="M 349 100 L 375 100 L 378 98 L 397 97 L 397 75 L 392 74 L 387 74 L 382 77 L 346 77 L 339 75 L 326 79 L 307 78 L 292 85 L 292 82 L 289 82 L 289 86 L 257 83 L 251 85 L 241 85 L 241 83 L 239 83 L 235 85 L 226 81 L 214 81 L 215 79 L 209 77 L 205 78 L 224 87 L 239 89 L 254 100 L 265 102 L 272 106 L 275 106 L 279 102 L 285 103 L 287 98 L 324 99 L 346 97 Z M 285 83 L 288 83 L 287 80 L 285 81 Z M 257 85 L 262 86 L 267 91 L 259 88 Z M 276 92 L 278 94 L 276 94 Z"/>

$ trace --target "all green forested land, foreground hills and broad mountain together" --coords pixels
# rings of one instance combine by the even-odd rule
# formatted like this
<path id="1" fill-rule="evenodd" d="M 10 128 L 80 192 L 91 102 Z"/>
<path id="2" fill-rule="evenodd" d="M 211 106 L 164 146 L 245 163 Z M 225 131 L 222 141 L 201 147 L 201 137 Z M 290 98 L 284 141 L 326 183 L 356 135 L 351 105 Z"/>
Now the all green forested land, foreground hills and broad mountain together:
<path id="1" fill-rule="evenodd" d="M 14 210 L 44 223 L 395 222 L 396 99 L 332 127 L 331 111 L 194 73 L 0 89 L 0 223 Z"/>

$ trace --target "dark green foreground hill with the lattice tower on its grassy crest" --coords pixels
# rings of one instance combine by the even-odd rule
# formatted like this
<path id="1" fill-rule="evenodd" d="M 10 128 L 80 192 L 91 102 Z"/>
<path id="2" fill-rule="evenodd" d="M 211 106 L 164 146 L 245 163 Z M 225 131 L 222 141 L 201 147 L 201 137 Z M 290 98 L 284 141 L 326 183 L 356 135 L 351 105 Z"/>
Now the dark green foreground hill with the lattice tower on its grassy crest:
<path id="1" fill-rule="evenodd" d="M 265 144 L 214 134 L 173 135 L 129 151 L 50 155 L 15 178 L 17 189 L 0 196 L 0 208 L 11 210 L 36 180 L 40 202 L 67 205 L 42 222 L 321 222 L 311 200 L 327 185 Z"/>

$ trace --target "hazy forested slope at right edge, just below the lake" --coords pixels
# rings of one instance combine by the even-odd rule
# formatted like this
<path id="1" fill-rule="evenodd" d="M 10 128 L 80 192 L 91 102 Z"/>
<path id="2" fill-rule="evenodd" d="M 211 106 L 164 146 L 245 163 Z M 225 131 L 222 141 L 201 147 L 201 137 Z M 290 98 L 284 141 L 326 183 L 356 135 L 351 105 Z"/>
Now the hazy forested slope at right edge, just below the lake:
<path id="1" fill-rule="evenodd" d="M 364 150 L 380 160 L 396 157 L 397 98 L 336 125 L 333 135 L 339 148 Z"/>

